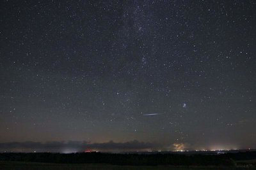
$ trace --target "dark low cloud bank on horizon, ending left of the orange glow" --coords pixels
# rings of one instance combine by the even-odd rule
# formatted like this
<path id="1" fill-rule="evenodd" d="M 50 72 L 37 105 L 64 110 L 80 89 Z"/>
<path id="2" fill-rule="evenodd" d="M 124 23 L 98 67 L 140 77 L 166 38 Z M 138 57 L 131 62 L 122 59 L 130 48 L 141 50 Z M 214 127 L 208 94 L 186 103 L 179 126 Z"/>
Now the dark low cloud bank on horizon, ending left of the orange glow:
<path id="1" fill-rule="evenodd" d="M 147 151 L 163 148 L 159 143 L 140 142 L 137 140 L 116 143 L 89 143 L 87 141 L 48 141 L 45 143 L 35 141 L 0 143 L 0 152 L 122 152 L 122 151 Z"/>

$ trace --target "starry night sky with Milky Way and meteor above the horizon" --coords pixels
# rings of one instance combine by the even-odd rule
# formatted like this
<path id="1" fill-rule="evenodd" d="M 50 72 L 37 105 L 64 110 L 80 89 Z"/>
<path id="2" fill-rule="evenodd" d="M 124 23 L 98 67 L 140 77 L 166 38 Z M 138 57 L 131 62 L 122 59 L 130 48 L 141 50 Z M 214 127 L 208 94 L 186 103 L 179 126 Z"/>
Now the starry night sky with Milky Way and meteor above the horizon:
<path id="1" fill-rule="evenodd" d="M 256 1 L 1 1 L 0 151 L 256 148 Z"/>

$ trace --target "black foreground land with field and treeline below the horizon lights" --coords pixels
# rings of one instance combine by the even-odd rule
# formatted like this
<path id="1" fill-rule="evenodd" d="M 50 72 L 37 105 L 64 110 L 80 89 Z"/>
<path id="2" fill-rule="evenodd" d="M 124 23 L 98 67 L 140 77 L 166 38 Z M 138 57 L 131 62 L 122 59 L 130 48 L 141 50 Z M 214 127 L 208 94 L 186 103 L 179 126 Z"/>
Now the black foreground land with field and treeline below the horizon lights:
<path id="1" fill-rule="evenodd" d="M 256 152 L 221 155 L 0 153 L 0 169 L 256 169 Z"/>

